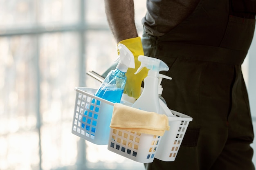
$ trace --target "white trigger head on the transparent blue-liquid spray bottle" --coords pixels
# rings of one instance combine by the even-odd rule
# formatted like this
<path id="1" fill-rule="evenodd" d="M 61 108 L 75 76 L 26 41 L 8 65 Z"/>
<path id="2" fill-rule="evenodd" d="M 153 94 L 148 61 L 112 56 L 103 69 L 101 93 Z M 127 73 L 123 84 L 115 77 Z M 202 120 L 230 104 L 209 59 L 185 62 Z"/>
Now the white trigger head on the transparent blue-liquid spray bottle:
<path id="1" fill-rule="evenodd" d="M 135 68 L 132 52 L 124 44 L 118 44 L 117 48 L 119 49 L 119 58 L 117 59 L 119 63 L 117 64 L 117 69 L 126 73 L 128 68 Z"/>

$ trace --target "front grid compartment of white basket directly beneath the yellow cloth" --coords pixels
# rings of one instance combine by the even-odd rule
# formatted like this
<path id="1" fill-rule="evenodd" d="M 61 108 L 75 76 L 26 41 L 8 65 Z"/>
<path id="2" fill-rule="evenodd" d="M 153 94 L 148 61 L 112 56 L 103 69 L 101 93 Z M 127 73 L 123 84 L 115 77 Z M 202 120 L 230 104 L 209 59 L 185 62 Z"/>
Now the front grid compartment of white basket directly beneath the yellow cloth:
<path id="1" fill-rule="evenodd" d="M 152 162 L 160 136 L 148 135 L 127 130 L 110 130 L 108 150 L 137 162 Z"/>

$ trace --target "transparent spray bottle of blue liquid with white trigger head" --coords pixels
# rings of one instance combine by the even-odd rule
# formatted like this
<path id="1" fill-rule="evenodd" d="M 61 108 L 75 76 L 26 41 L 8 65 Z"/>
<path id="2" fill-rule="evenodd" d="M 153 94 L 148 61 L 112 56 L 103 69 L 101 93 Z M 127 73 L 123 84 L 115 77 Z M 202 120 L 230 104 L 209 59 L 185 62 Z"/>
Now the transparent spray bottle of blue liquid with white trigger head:
<path id="1" fill-rule="evenodd" d="M 120 103 L 126 84 L 126 71 L 128 67 L 135 68 L 134 56 L 124 45 L 118 44 L 119 63 L 115 70 L 108 73 L 101 86 L 95 93 L 96 96 L 113 103 Z"/>

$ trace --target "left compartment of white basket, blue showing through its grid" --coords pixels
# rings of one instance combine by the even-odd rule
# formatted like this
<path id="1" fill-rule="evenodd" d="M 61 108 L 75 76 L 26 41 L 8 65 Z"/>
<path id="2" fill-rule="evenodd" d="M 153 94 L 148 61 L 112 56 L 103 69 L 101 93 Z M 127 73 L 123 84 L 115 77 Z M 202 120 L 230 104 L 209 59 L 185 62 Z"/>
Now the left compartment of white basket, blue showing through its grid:
<path id="1" fill-rule="evenodd" d="M 72 133 L 93 144 L 106 145 L 114 103 L 93 94 L 97 89 L 76 87 Z"/>

